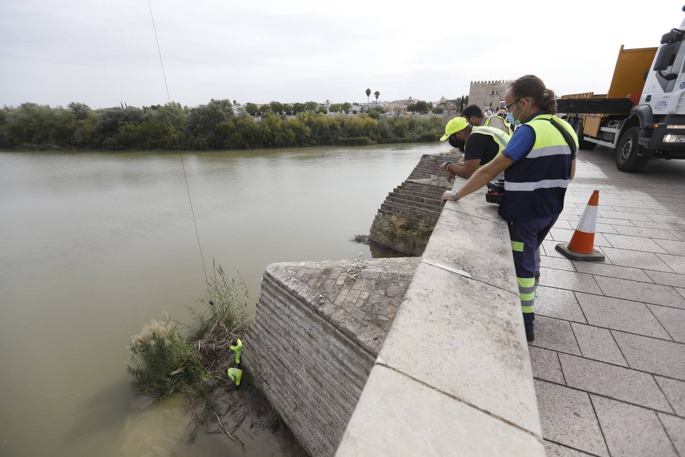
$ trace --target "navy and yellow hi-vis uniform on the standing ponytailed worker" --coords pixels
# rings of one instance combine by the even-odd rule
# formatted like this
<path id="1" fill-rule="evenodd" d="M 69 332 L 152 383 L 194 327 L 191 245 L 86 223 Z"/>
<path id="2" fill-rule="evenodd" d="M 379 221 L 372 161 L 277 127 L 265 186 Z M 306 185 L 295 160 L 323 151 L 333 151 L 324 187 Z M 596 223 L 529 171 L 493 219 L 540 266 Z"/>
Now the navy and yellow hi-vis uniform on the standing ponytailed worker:
<path id="1" fill-rule="evenodd" d="M 578 145 L 571 125 L 551 114 L 537 112 L 516 129 L 502 155 L 514 160 L 504 171 L 504 195 L 499 214 L 508 222 L 521 311 L 526 332 L 535 314 L 535 252 L 564 209 L 575 156 L 561 132 L 566 129 Z"/>

